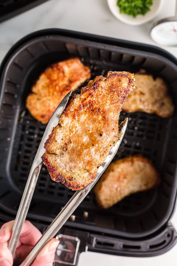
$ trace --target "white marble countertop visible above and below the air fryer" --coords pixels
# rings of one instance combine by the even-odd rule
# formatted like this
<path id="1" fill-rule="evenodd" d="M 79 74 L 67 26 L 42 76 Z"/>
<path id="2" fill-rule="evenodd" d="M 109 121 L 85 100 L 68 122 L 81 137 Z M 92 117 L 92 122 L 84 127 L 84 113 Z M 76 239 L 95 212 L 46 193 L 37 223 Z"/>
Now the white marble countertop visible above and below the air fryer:
<path id="1" fill-rule="evenodd" d="M 164 0 L 154 21 L 175 15 L 175 0 Z M 45 28 L 64 28 L 94 33 L 114 38 L 155 45 L 150 38 L 153 21 L 140 26 L 129 26 L 117 20 L 109 11 L 106 0 L 50 0 L 0 24 L 0 62 L 9 48 L 25 35 Z M 177 47 L 162 47 L 177 57 Z M 177 229 L 177 210 L 171 219 Z M 93 254 L 81 254 L 79 266 L 90 265 L 161 265 L 176 266 L 177 244 L 169 252 L 153 258 L 131 258 Z"/>

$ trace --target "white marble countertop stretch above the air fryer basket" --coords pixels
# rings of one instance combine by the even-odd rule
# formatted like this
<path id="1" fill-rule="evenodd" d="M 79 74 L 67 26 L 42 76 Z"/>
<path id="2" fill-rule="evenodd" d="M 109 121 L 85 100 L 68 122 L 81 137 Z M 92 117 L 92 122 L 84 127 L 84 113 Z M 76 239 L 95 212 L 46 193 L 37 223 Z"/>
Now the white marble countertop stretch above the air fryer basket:
<path id="1" fill-rule="evenodd" d="M 174 14 L 175 0 L 164 0 L 153 21 L 130 26 L 112 15 L 106 0 L 50 0 L 0 24 L 0 60 L 17 40 L 45 28 L 76 30 L 155 45 L 149 35 L 153 22 Z M 177 56 L 177 47 L 165 49 Z"/>

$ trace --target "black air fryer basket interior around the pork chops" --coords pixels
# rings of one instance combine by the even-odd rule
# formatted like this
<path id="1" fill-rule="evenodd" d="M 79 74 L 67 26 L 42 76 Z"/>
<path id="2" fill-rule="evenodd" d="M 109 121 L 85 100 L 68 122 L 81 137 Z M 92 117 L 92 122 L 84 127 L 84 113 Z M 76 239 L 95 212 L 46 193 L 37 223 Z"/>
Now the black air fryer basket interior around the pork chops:
<path id="1" fill-rule="evenodd" d="M 124 42 L 124 47 L 120 47 L 117 45 L 123 41 L 114 40 L 114 45 L 110 45 L 104 38 L 100 38 L 105 42 L 101 43 L 96 38 L 97 42 L 90 41 L 88 35 L 85 35 L 87 40 L 81 38 L 82 34 L 80 38 L 66 35 L 66 32 L 62 34 L 57 30 L 30 35 L 11 49 L 1 66 L 0 207 L 11 215 L 17 212 L 45 130 L 45 125 L 33 119 L 26 110 L 25 99 L 32 84 L 48 65 L 79 56 L 84 64 L 91 67 L 92 77 L 104 75 L 109 70 L 137 72 L 141 68 L 147 69 L 165 79 L 174 104 L 177 102 L 177 66 L 168 53 L 159 50 L 164 56 L 155 54 L 150 52 L 153 51 L 150 46 L 143 44 L 136 50 L 133 43 Z M 137 153 L 150 158 L 161 174 L 159 188 L 126 197 L 108 210 L 100 210 L 96 206 L 91 192 L 74 213 L 75 220 L 69 220 L 66 225 L 137 238 L 156 232 L 168 222 L 177 189 L 176 111 L 168 119 L 140 112 L 122 112 L 120 119 L 127 116 L 128 128 L 115 159 Z M 28 217 L 50 222 L 72 195 L 73 192 L 64 185 L 53 182 L 43 166 Z M 84 212 L 88 215 L 83 215 Z"/>

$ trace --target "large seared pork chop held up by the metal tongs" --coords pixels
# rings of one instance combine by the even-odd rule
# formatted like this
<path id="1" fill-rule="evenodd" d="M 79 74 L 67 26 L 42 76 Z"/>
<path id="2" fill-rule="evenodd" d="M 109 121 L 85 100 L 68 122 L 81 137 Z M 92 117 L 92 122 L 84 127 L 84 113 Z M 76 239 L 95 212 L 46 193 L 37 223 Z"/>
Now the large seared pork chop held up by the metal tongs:
<path id="1" fill-rule="evenodd" d="M 119 113 L 134 82 L 128 72 L 108 72 L 72 97 L 44 146 L 42 160 L 54 181 L 73 190 L 94 181 L 119 138 Z"/>

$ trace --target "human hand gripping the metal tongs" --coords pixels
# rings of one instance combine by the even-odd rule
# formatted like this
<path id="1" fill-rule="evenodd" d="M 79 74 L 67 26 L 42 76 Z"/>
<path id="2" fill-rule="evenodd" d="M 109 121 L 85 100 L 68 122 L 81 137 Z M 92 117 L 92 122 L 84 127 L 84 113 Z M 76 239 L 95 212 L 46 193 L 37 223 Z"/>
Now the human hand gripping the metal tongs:
<path id="1" fill-rule="evenodd" d="M 13 265 L 12 253 L 8 249 L 8 241 L 13 224 L 14 221 L 4 223 L 0 229 L 0 266 Z M 25 221 L 17 244 L 14 261 L 21 262 L 41 236 L 40 231 L 32 223 Z M 39 252 L 32 266 L 52 266 L 58 244 L 59 241 L 57 239 L 51 239 Z"/>

